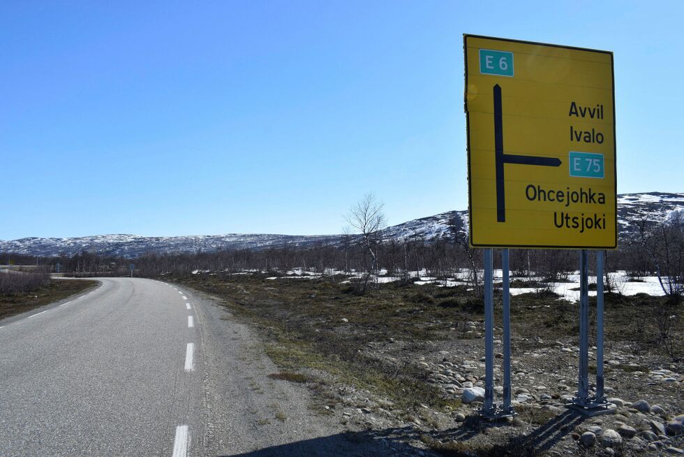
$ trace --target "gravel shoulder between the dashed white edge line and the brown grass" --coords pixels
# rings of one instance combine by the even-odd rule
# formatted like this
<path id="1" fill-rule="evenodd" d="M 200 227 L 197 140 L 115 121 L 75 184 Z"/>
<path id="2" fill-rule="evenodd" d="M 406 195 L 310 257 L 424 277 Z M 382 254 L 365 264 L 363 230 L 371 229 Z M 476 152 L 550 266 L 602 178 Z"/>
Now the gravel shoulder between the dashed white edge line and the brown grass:
<path id="1" fill-rule="evenodd" d="M 380 443 L 350 435 L 334 415 L 315 408 L 306 386 L 274 379 L 280 370 L 255 333 L 207 294 L 193 296 L 200 303 L 206 455 L 387 454 Z"/>

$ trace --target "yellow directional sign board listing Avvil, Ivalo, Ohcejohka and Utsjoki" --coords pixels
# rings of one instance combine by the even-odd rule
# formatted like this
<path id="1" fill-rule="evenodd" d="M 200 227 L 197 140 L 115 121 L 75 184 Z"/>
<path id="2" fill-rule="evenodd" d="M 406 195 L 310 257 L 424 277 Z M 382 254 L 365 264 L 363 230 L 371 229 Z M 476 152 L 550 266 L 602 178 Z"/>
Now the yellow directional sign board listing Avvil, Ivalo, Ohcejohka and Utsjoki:
<path id="1" fill-rule="evenodd" d="M 613 54 L 465 35 L 474 247 L 617 247 Z"/>

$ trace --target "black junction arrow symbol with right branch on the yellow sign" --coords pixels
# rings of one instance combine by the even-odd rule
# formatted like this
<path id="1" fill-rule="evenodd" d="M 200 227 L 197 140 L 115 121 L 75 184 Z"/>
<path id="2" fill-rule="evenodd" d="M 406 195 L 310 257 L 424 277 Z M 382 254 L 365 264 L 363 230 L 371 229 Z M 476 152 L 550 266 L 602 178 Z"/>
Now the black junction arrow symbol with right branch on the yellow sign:
<path id="1" fill-rule="evenodd" d="M 503 153 L 503 114 L 501 109 L 501 87 L 494 85 L 494 151 L 496 157 L 496 222 L 506 222 L 506 198 L 504 189 L 504 164 L 560 166 L 557 157 L 523 156 Z"/>

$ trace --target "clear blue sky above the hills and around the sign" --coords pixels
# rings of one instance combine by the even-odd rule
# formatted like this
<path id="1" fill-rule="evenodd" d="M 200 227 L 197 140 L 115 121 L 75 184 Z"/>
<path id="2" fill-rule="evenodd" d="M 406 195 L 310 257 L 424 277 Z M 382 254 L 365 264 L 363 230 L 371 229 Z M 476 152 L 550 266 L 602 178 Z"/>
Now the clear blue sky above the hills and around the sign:
<path id="1" fill-rule="evenodd" d="M 615 52 L 618 191 L 684 191 L 684 2 L 3 1 L 0 239 L 467 207 L 463 33 Z"/>

